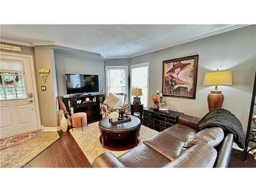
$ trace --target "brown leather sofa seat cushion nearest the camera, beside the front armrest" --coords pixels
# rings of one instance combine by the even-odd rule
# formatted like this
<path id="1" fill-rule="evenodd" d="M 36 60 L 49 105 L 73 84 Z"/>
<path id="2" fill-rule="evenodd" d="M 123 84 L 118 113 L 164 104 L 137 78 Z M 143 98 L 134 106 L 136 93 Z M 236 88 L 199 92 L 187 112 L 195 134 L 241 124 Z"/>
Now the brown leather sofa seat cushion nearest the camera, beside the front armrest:
<path id="1" fill-rule="evenodd" d="M 125 167 L 134 168 L 160 168 L 170 162 L 168 159 L 143 143 L 118 157 L 118 160 L 124 164 Z"/>

